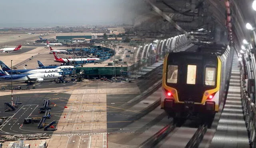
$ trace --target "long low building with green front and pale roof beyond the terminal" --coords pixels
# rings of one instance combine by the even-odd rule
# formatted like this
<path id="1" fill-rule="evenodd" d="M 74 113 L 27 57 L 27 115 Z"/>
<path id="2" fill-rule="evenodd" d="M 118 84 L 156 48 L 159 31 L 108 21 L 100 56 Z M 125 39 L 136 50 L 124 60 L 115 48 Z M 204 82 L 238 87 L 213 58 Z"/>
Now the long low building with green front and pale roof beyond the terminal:
<path id="1" fill-rule="evenodd" d="M 92 39 L 92 33 L 86 33 L 86 32 L 56 33 L 57 40 L 71 40 L 74 38 Z"/>

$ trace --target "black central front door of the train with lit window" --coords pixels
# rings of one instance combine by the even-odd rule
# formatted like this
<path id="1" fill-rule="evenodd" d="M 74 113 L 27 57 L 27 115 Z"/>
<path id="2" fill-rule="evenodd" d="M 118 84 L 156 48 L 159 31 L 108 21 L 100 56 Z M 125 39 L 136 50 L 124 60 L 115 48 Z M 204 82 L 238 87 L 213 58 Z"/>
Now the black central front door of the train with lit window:
<path id="1" fill-rule="evenodd" d="M 182 63 L 182 92 L 180 101 L 201 103 L 202 75 L 204 67 L 201 59 L 184 59 Z"/>

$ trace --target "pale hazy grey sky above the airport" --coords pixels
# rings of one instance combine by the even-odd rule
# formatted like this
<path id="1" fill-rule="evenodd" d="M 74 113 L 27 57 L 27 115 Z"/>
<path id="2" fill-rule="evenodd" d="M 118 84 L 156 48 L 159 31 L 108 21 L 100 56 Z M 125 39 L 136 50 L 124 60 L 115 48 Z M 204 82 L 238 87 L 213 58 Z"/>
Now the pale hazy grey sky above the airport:
<path id="1" fill-rule="evenodd" d="M 1 0 L 0 27 L 131 22 L 143 0 Z"/>

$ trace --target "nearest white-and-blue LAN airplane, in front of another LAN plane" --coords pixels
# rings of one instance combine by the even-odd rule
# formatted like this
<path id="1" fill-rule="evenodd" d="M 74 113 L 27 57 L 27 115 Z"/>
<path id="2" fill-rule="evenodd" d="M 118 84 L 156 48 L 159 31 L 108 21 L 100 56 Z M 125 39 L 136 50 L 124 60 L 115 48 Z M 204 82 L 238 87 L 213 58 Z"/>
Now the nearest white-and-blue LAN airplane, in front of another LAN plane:
<path id="1" fill-rule="evenodd" d="M 14 81 L 22 83 L 38 83 L 45 80 L 54 80 L 62 77 L 60 73 L 34 73 L 34 74 L 14 74 L 7 75 L 4 71 L 0 70 L 0 80 Z"/>

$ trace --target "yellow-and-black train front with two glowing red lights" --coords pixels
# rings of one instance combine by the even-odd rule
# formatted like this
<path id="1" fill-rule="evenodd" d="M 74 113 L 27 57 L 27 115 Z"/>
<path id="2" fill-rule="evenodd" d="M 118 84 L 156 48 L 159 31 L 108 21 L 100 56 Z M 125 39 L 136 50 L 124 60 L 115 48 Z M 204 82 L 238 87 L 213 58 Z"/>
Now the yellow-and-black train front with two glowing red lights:
<path id="1" fill-rule="evenodd" d="M 213 118 L 224 93 L 226 59 L 230 48 L 221 53 L 177 52 L 164 59 L 161 109 L 169 117 Z M 223 82 L 221 82 L 223 80 Z"/>

